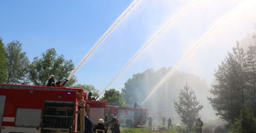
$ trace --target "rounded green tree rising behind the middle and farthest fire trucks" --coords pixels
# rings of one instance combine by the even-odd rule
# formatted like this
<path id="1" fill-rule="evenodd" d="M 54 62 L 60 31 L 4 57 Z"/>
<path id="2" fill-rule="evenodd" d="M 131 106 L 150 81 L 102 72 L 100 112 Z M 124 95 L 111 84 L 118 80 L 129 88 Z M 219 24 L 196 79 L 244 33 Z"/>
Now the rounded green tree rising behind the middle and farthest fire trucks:
<path id="1" fill-rule="evenodd" d="M 129 105 L 125 104 L 122 93 L 114 88 L 105 90 L 104 95 L 100 100 L 103 99 L 107 100 L 109 105 L 129 107 Z"/>

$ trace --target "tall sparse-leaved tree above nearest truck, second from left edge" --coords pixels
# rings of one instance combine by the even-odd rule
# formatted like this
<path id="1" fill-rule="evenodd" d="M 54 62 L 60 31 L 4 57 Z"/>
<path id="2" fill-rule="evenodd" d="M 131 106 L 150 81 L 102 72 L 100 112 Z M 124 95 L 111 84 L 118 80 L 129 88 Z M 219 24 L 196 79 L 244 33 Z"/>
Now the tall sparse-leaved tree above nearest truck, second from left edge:
<path id="1" fill-rule="evenodd" d="M 22 43 L 12 41 L 5 47 L 7 59 L 7 84 L 28 84 L 29 59 L 22 52 Z"/>

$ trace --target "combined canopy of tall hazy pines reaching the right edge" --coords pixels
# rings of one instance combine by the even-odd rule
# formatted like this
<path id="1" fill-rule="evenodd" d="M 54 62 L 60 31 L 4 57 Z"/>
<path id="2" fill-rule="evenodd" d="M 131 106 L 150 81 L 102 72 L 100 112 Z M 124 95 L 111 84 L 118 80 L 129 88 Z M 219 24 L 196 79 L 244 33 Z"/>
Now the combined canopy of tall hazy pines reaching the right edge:
<path id="1" fill-rule="evenodd" d="M 246 104 L 253 108 L 256 115 L 256 45 L 249 46 L 245 53 L 239 42 L 233 47 L 232 53 L 219 65 L 214 76 L 218 83 L 210 92 L 214 97 L 208 100 L 216 115 L 222 120 L 234 123 L 240 116 L 240 110 Z"/>

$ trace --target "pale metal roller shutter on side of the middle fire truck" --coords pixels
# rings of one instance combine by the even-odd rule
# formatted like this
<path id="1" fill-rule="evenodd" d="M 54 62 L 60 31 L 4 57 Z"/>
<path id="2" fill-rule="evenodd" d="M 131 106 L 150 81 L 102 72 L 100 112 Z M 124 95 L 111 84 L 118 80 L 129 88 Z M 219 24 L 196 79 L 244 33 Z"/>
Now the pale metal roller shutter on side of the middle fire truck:
<path id="1" fill-rule="evenodd" d="M 90 119 L 94 124 L 98 124 L 98 119 L 104 118 L 104 108 L 90 108 Z"/>

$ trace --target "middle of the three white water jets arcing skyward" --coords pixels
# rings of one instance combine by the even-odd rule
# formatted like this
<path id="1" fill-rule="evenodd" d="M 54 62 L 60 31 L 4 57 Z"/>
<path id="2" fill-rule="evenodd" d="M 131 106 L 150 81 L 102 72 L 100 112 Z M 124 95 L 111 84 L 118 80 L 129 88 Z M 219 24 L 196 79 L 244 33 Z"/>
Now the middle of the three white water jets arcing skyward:
<path id="1" fill-rule="evenodd" d="M 123 69 L 117 73 L 117 75 L 111 80 L 111 82 L 104 88 L 104 90 L 101 91 L 104 92 L 106 88 L 108 88 L 108 86 L 116 79 L 116 77 L 133 61 L 134 58 L 136 58 L 142 50 L 145 49 L 145 47 L 150 44 L 163 30 L 165 30 L 169 25 L 171 25 L 179 16 L 181 16 L 185 11 L 187 11 L 189 8 L 191 8 L 191 6 L 193 6 L 196 2 L 198 2 L 199 0 L 194 1 L 192 4 L 190 4 L 189 6 L 187 6 L 185 9 L 183 9 L 177 16 L 175 16 L 173 19 L 170 20 L 170 22 L 165 25 L 160 31 L 157 32 L 157 34 L 150 40 L 148 41 L 139 51 L 136 55 L 134 55 L 131 60 L 129 60 L 129 62 L 123 67 Z M 100 97 L 101 93 L 98 95 L 98 97 Z"/>

